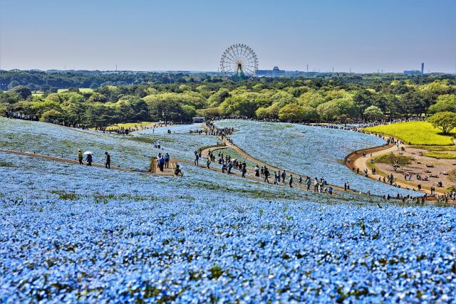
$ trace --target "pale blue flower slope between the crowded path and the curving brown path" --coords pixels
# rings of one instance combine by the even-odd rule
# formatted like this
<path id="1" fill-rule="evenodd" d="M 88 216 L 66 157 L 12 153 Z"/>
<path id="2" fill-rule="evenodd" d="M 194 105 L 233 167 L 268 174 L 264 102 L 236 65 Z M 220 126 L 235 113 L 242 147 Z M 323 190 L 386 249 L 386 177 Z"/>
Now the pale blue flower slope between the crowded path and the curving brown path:
<path id="1" fill-rule="evenodd" d="M 234 127 L 233 142 L 253 157 L 311 178 L 324 177 L 329 183 L 378 195 L 417 196 L 417 192 L 390 187 L 351 172 L 343 159 L 355 150 L 383 145 L 384 140 L 348 130 L 309 125 L 249 120 L 222 120 L 222 127 Z"/>

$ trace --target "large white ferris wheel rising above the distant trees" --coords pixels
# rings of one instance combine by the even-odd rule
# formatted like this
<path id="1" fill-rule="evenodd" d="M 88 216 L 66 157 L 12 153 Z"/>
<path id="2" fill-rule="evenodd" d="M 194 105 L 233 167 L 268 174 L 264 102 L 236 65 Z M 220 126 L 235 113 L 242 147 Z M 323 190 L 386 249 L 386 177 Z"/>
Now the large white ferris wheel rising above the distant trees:
<path id="1" fill-rule="evenodd" d="M 220 70 L 232 80 L 252 79 L 258 70 L 257 54 L 245 44 L 233 44 L 223 52 Z"/>

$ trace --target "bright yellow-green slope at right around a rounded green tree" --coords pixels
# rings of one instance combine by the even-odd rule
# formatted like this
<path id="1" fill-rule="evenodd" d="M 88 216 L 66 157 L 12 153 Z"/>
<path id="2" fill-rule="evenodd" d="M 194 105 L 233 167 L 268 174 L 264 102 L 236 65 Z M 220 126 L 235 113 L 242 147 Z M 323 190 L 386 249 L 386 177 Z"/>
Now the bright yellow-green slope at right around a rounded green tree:
<path id="1" fill-rule="evenodd" d="M 400 138 L 412 145 L 453 145 L 451 135 L 440 135 L 440 130 L 432 127 L 429 122 L 398 122 L 391 125 L 367 127 L 366 132 L 381 133 L 383 135 Z"/>

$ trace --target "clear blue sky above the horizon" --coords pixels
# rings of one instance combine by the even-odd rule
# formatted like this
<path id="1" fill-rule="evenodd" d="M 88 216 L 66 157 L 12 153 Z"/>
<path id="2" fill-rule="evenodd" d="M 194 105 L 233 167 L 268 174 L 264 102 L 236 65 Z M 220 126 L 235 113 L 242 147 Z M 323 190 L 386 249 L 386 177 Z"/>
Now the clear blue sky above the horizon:
<path id="1" fill-rule="evenodd" d="M 1 69 L 456 71 L 456 0 L 0 0 Z"/>

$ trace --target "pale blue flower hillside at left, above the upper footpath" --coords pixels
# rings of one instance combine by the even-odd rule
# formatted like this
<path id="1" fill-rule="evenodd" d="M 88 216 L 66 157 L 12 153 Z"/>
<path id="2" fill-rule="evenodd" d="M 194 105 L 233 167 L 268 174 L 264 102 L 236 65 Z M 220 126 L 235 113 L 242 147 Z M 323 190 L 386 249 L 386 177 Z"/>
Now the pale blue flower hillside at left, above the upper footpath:
<path id="1" fill-rule="evenodd" d="M 168 128 L 182 129 L 180 126 Z M 154 148 L 155 141 L 160 142 L 161 150 Z M 44 122 L 0 117 L 0 149 L 23 150 L 70 159 L 76 159 L 78 149 L 83 152 L 89 150 L 93 152 L 94 162 L 103 162 L 104 152 L 108 151 L 113 166 L 130 169 L 146 170 L 150 157 L 160 152 L 169 152 L 171 157 L 192 160 L 195 150 L 209 145 L 217 145 L 217 138 L 166 132 L 155 135 L 151 129 L 123 137 Z"/>

